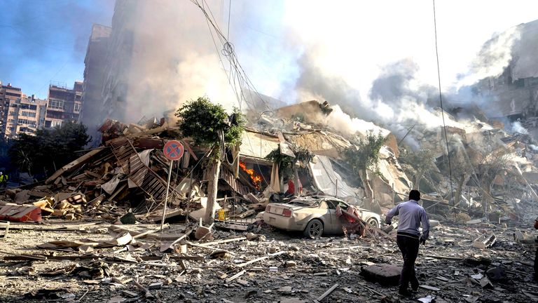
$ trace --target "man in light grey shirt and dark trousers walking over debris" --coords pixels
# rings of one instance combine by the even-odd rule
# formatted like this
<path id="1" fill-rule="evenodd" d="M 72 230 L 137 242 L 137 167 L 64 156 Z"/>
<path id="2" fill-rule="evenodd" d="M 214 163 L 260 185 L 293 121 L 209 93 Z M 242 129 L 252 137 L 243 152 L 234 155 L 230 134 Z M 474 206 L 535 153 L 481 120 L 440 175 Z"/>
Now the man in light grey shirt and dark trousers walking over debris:
<path id="1" fill-rule="evenodd" d="M 385 223 L 392 224 L 392 217 L 399 216 L 396 243 L 403 256 L 403 268 L 400 274 L 400 295 L 411 297 L 408 290 L 409 282 L 413 291 L 418 290 L 418 279 L 415 275 L 415 260 L 418 256 L 418 246 L 426 244 L 429 236 L 429 220 L 426 210 L 418 205 L 420 191 L 413 189 L 409 192 L 409 201 L 399 203 L 387 213 Z M 422 236 L 418 228 L 422 222 Z"/>

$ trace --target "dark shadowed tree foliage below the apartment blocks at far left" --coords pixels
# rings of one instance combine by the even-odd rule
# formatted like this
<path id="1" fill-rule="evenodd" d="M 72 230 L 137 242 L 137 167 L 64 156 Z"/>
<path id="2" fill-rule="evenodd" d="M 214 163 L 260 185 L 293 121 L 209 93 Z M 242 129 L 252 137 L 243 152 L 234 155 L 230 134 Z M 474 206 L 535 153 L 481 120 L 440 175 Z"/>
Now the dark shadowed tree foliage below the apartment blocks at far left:
<path id="1" fill-rule="evenodd" d="M 36 135 L 20 134 L 8 149 L 11 163 L 28 173 L 54 172 L 78 158 L 75 152 L 90 142 L 87 128 L 76 122 L 63 123 Z"/>

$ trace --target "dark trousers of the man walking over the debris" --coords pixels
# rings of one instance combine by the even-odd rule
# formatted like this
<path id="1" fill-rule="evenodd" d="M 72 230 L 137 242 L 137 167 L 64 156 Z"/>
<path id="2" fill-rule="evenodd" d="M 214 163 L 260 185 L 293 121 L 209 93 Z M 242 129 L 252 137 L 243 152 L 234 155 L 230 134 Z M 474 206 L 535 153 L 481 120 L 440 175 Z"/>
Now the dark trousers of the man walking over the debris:
<path id="1" fill-rule="evenodd" d="M 417 289 L 418 279 L 415 276 L 415 260 L 417 260 L 418 256 L 418 236 L 399 231 L 396 236 L 396 243 L 398 243 L 398 248 L 400 248 L 401 255 L 403 256 L 400 290 L 407 290 L 409 282 L 411 282 L 411 288 Z"/>

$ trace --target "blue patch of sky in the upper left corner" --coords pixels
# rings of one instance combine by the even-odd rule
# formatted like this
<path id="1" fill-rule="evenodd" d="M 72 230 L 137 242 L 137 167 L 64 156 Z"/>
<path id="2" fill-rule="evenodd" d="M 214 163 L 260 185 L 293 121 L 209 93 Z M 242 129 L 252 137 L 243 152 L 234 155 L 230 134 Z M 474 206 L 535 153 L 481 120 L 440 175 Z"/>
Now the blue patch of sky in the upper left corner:
<path id="1" fill-rule="evenodd" d="M 83 79 L 92 23 L 110 25 L 113 0 L 0 0 L 0 81 L 46 98 L 50 81 Z"/>

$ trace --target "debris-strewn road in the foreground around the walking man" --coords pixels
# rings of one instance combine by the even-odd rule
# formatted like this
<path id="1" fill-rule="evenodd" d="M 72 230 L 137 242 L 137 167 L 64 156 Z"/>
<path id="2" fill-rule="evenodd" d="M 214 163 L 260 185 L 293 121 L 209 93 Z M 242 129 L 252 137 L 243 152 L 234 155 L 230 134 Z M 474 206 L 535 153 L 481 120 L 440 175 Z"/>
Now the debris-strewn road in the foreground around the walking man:
<path id="1" fill-rule="evenodd" d="M 171 224 L 160 234 L 149 224 L 12 224 L 0 240 L 0 302 L 314 302 L 324 294 L 319 302 L 418 302 L 428 295 L 435 302 L 538 299 L 534 245 L 516 242 L 516 227 L 441 222 L 420 248 L 422 287 L 410 299 L 361 275 L 368 265 L 402 264 L 388 239 L 307 240 L 266 227 L 217 229 L 211 241 L 184 236 L 196 227 Z M 481 234 L 495 234 L 497 241 L 476 248 Z"/>

